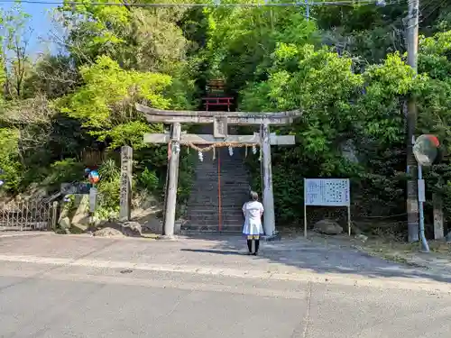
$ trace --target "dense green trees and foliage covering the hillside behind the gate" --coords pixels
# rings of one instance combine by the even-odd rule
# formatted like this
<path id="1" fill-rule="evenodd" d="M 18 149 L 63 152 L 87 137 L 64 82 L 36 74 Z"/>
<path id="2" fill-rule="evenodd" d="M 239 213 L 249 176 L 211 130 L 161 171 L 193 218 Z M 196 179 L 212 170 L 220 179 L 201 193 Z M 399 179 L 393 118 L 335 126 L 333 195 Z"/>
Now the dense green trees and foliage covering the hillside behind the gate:
<path id="1" fill-rule="evenodd" d="M 114 210 L 117 151 L 131 145 L 134 186 L 161 196 L 167 150 L 143 144 L 143 133 L 161 132 L 162 125 L 146 123 L 134 103 L 197 108 L 209 78 L 226 80 L 239 110 L 303 112 L 296 123 L 274 130 L 298 140 L 273 149 L 281 224 L 302 218 L 305 177 L 352 178 L 356 216 L 402 214 L 410 96 L 418 103 L 418 132 L 435 132 L 450 145 L 451 7 L 444 2 L 421 8 L 417 77 L 405 64 L 407 3 L 317 5 L 309 18 L 303 8 L 288 6 L 85 3 L 55 12 L 63 33 L 53 34 L 53 42 L 60 50 L 36 60 L 27 52 L 29 16 L 20 6 L 1 12 L 0 167 L 8 193 L 33 182 L 55 188 L 80 179 L 84 166 L 101 165 L 103 203 Z M 105 156 L 89 162 L 87 151 Z M 260 188 L 260 165 L 248 164 Z M 189 196 L 192 170 L 184 155 L 182 199 Z M 446 160 L 427 178 L 451 211 Z"/>

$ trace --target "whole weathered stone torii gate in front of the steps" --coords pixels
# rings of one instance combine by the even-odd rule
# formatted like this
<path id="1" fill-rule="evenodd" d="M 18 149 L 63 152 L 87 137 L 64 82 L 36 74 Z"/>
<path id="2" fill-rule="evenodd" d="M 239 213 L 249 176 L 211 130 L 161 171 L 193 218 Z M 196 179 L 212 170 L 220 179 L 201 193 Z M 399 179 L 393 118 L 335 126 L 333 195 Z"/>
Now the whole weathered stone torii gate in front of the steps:
<path id="1" fill-rule="evenodd" d="M 170 123 L 170 133 L 144 134 L 145 143 L 161 143 L 170 145 L 168 163 L 167 197 L 164 206 L 163 235 L 174 234 L 175 210 L 177 199 L 177 184 L 179 178 L 180 144 L 211 145 L 259 145 L 262 151 L 263 193 L 264 207 L 263 230 L 266 236 L 275 233 L 274 196 L 272 193 L 272 145 L 295 144 L 293 135 L 275 135 L 270 133 L 270 125 L 289 124 L 301 115 L 299 110 L 281 113 L 249 113 L 249 112 L 211 112 L 211 111 L 165 111 L 153 109 L 145 105 L 135 105 L 136 110 L 145 114 L 149 123 Z M 208 124 L 213 123 L 213 135 L 189 134 L 181 132 L 180 123 Z M 228 125 L 260 125 L 261 132 L 253 135 L 228 135 Z"/>

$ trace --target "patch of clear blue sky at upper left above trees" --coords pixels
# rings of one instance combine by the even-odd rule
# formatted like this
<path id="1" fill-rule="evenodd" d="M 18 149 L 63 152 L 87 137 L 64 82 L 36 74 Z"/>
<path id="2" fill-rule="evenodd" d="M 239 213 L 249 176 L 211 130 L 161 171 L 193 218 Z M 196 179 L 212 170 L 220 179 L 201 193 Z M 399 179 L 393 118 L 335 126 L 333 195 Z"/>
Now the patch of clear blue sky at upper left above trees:
<path id="1" fill-rule="evenodd" d="M 52 28 L 50 14 L 51 10 L 57 7 L 57 5 L 46 5 L 46 4 L 22 4 L 23 12 L 32 15 L 31 26 L 32 26 L 32 36 L 30 40 L 30 45 L 28 48 L 28 53 L 32 56 L 38 55 L 49 49 L 48 43 L 42 43 L 41 39 L 47 39 L 48 32 Z M 12 3 L 1 3 L 0 8 L 8 10 L 14 7 Z M 51 49 L 53 49 L 51 47 Z"/>

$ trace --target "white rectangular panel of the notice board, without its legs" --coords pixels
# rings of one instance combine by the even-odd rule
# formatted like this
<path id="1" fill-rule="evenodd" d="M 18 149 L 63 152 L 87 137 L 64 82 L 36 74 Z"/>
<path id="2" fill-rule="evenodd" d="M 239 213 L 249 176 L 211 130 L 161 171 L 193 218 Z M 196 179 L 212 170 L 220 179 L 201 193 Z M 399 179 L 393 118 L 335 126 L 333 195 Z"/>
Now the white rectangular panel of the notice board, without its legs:
<path id="1" fill-rule="evenodd" d="M 350 206 L 349 178 L 305 178 L 306 206 Z"/>

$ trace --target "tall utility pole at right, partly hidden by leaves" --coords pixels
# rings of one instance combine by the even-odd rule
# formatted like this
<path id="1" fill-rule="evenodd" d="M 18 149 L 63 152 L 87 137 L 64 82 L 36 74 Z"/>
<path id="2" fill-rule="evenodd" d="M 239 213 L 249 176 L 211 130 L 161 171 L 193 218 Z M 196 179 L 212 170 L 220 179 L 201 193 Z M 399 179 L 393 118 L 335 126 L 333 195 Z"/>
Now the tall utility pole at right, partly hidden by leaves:
<path id="1" fill-rule="evenodd" d="M 419 0 L 409 0 L 409 16 L 407 21 L 407 63 L 418 72 L 419 50 Z M 417 127 L 417 103 L 413 97 L 409 98 L 407 105 L 407 174 L 410 176 L 407 182 L 407 224 L 408 241 L 419 241 L 419 196 L 417 182 L 417 160 L 413 155 L 413 143 L 415 142 L 415 130 Z"/>

